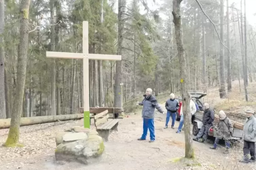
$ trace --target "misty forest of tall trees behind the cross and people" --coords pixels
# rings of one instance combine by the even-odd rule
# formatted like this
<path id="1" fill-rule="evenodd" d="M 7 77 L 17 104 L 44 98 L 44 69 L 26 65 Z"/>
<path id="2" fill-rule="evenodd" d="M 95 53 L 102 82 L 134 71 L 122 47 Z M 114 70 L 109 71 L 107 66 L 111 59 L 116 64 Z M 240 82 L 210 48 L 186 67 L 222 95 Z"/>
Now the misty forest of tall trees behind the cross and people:
<path id="1" fill-rule="evenodd" d="M 90 107 L 129 113 L 146 88 L 156 96 L 181 94 L 182 67 L 188 91 L 216 86 L 225 98 L 238 80 L 248 101 L 248 83 L 256 81 L 256 30 L 246 20 L 245 0 L 181 2 L 184 65 L 170 0 L 1 0 L 0 118 L 14 124 L 20 117 L 79 113 L 83 61 L 46 58 L 46 51 L 81 53 L 83 21 L 89 53 L 122 56 L 89 60 Z"/>

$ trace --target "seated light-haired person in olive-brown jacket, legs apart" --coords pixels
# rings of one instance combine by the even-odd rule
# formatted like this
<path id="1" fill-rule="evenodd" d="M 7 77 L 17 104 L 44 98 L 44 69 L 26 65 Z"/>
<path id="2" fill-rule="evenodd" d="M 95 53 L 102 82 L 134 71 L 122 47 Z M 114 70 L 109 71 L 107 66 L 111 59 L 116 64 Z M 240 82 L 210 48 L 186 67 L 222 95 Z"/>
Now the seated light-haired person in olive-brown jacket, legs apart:
<path id="1" fill-rule="evenodd" d="M 214 146 L 210 147 L 210 149 L 216 149 L 219 141 L 223 139 L 225 141 L 226 150 L 224 153 L 229 153 L 230 143 L 229 140 L 233 135 L 233 125 L 231 121 L 226 116 L 225 112 L 221 110 L 219 112 L 219 122 L 216 129 L 215 141 Z"/>

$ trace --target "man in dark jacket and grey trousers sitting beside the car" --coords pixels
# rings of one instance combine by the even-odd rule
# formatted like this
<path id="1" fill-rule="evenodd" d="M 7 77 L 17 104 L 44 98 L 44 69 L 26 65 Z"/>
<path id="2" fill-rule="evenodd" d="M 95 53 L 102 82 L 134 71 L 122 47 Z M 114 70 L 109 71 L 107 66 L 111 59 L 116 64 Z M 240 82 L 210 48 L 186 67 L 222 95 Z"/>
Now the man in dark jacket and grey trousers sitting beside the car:
<path id="1" fill-rule="evenodd" d="M 212 126 L 212 122 L 214 121 L 214 111 L 210 109 L 210 106 L 208 103 L 204 104 L 204 113 L 203 113 L 203 126 L 200 129 L 199 133 L 197 136 L 193 137 L 194 141 L 198 142 L 206 142 L 209 129 Z"/>

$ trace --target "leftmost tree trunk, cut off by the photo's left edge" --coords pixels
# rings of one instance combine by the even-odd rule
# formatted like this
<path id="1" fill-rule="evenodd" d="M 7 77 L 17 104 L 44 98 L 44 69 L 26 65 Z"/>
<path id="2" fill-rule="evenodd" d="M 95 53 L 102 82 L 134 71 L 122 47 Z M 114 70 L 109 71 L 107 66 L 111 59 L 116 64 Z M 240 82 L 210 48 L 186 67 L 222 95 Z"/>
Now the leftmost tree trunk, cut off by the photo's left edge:
<path id="1" fill-rule="evenodd" d="M 6 118 L 4 88 L 4 0 L 0 1 L 0 119 Z"/>

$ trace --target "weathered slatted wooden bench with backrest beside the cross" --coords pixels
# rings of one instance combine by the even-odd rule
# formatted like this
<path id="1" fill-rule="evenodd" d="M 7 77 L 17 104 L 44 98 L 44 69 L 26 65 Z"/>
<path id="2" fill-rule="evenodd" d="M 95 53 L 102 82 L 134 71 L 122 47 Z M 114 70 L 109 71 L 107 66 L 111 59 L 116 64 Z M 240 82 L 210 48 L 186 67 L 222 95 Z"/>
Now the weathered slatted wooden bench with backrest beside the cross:
<path id="1" fill-rule="evenodd" d="M 93 116 L 94 124 L 96 127 L 96 131 L 99 133 L 99 135 L 105 139 L 105 141 L 108 141 L 108 136 L 110 134 L 110 130 L 117 130 L 118 126 L 118 120 L 117 119 L 108 119 L 109 114 L 108 110 L 105 110 L 95 116 Z M 103 117 L 99 119 L 100 117 Z"/>

